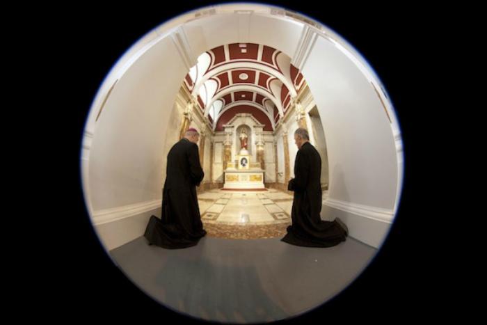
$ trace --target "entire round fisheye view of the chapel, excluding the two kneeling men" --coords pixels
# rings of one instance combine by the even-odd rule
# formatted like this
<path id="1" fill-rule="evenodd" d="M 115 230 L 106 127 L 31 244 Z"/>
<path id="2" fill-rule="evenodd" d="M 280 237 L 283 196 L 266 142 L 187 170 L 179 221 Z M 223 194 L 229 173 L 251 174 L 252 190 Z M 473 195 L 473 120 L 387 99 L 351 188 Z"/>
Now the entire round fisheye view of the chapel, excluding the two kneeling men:
<path id="1" fill-rule="evenodd" d="M 190 127 L 207 236 L 147 246 L 168 151 Z M 321 156 L 321 219 L 349 228 L 333 248 L 280 242 L 298 127 Z M 165 306 L 218 322 L 284 319 L 340 292 L 387 237 L 402 177 L 399 124 L 365 59 L 319 22 L 257 3 L 200 8 L 144 35 L 100 86 L 81 148 L 86 207 L 113 261 Z"/>

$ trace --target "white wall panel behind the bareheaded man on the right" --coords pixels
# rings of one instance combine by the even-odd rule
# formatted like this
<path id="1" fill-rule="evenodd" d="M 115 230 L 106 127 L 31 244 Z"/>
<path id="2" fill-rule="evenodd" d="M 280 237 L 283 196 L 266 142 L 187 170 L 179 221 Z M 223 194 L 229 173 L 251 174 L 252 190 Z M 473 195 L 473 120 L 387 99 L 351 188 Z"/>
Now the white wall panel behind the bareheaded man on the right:
<path id="1" fill-rule="evenodd" d="M 392 127 L 370 81 L 318 37 L 303 69 L 326 132 L 329 198 L 394 208 L 397 156 Z"/>

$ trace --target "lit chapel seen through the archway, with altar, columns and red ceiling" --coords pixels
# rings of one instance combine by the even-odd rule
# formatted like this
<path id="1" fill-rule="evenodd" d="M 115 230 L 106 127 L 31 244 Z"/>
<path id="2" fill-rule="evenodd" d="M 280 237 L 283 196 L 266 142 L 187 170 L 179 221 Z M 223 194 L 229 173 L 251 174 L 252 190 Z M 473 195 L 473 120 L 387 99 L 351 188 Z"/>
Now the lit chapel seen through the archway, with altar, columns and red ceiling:
<path id="1" fill-rule="evenodd" d="M 285 235 L 297 127 L 308 129 L 320 152 L 326 195 L 325 134 L 303 74 L 290 61 L 266 45 L 227 44 L 199 56 L 182 81 L 173 123 L 179 129 L 170 133 L 181 138 L 189 127 L 200 132 L 205 178 L 198 201 L 210 236 Z"/>

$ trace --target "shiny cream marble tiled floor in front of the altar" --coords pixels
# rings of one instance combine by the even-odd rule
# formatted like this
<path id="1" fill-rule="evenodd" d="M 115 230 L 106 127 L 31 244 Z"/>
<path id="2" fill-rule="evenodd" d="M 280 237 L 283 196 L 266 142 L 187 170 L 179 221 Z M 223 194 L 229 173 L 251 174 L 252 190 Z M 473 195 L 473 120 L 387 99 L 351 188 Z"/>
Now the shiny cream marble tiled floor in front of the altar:
<path id="1" fill-rule="evenodd" d="M 292 195 L 267 191 L 198 193 L 200 214 L 209 237 L 257 239 L 282 237 L 291 224 Z"/>

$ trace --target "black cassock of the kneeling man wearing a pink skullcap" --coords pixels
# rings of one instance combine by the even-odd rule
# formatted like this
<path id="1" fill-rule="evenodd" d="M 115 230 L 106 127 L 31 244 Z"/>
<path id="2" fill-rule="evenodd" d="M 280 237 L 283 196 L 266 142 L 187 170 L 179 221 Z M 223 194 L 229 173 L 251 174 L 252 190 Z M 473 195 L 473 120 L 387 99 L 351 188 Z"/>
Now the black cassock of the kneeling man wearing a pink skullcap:
<path id="1" fill-rule="evenodd" d="M 151 216 L 144 236 L 150 244 L 163 248 L 195 246 L 207 233 L 203 229 L 195 188 L 205 175 L 198 145 L 186 138 L 173 145 L 168 153 L 166 171 L 161 219 Z"/>

